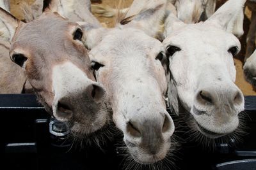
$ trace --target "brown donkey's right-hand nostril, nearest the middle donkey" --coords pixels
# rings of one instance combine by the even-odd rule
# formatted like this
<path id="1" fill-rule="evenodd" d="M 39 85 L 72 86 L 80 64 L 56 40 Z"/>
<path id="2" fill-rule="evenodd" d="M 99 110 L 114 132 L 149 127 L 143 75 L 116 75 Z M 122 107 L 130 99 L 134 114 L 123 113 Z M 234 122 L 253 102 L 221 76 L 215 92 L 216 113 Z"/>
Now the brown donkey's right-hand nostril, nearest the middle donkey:
<path id="1" fill-rule="evenodd" d="M 86 94 L 92 97 L 93 101 L 96 103 L 100 103 L 104 99 L 106 91 L 99 83 L 93 83 L 86 87 Z"/>

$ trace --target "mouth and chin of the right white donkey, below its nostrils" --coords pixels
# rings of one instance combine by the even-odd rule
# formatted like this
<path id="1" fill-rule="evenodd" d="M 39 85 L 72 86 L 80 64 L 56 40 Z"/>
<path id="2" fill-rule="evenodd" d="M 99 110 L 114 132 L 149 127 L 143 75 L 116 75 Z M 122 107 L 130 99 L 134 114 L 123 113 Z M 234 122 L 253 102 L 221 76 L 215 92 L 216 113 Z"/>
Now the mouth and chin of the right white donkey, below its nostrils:
<path id="1" fill-rule="evenodd" d="M 198 111 L 193 106 L 191 110 L 193 115 L 191 124 L 193 124 L 196 131 L 204 134 L 207 138 L 221 138 L 236 131 L 239 126 L 238 113 L 231 110 Z"/>

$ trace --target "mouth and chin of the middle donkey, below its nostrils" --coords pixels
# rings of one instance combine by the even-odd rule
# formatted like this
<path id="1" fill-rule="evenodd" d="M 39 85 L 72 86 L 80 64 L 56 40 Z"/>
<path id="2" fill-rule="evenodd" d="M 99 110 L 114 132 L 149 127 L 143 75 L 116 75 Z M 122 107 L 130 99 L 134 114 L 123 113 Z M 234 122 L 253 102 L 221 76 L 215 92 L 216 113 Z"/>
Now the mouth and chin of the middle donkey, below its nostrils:
<path id="1" fill-rule="evenodd" d="M 136 146 L 125 141 L 132 158 L 139 164 L 149 165 L 163 160 L 170 150 L 170 140 L 160 144 L 157 148 L 146 149 L 143 146 Z M 130 146 L 132 145 L 132 146 Z M 154 151 L 153 151 L 154 150 Z"/>

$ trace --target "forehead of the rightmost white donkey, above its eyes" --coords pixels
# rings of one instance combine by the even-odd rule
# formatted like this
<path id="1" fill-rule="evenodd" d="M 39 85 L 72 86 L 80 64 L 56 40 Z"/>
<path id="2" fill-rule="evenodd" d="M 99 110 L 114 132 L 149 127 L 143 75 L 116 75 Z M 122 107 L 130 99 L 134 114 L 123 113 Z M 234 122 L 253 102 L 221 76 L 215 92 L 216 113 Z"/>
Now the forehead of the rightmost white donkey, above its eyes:
<path id="1" fill-rule="evenodd" d="M 168 45 L 178 45 L 180 48 L 188 48 L 190 50 L 202 48 L 227 50 L 231 46 L 240 48 L 240 42 L 236 36 L 203 22 L 188 24 L 182 29 L 173 31 L 168 38 L 164 39 L 164 46 Z M 196 46 L 197 48 L 191 48 L 191 46 Z"/>

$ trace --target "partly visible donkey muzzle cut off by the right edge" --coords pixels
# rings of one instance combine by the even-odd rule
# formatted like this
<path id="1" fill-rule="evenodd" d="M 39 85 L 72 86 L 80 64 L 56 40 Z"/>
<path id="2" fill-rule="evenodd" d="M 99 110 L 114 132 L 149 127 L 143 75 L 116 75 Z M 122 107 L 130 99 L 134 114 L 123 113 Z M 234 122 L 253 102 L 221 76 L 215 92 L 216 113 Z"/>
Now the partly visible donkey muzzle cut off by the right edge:
<path id="1" fill-rule="evenodd" d="M 243 69 L 245 79 L 256 87 L 256 50 L 246 60 Z"/>

